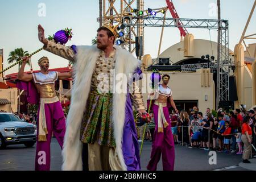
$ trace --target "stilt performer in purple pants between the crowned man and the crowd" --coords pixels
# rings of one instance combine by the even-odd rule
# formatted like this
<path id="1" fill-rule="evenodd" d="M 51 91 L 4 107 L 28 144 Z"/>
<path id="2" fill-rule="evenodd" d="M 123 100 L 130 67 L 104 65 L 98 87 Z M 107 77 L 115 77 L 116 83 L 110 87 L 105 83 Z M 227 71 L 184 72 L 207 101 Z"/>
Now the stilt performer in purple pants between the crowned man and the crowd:
<path id="1" fill-rule="evenodd" d="M 172 90 L 167 86 L 169 79 L 169 75 L 163 75 L 163 83 L 159 84 L 158 88 L 154 89 L 154 93 L 151 93 L 149 96 L 150 100 L 153 100 L 152 110 L 155 119 L 155 132 L 152 142 L 151 159 L 147 165 L 147 169 L 150 171 L 156 171 L 161 154 L 163 154 L 163 170 L 174 170 L 174 137 L 172 136 L 168 108 L 172 106 L 176 113 L 178 113 L 178 110 L 176 109 L 172 98 Z"/>

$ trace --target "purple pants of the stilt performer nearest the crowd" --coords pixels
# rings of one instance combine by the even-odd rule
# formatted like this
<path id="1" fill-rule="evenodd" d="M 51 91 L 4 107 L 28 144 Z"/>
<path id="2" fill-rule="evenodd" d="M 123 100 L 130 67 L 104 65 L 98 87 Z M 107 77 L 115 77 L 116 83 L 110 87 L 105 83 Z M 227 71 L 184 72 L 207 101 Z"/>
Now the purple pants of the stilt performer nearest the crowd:
<path id="1" fill-rule="evenodd" d="M 172 136 L 168 107 L 163 107 L 164 117 L 169 124 L 166 128 L 163 128 L 163 133 L 158 133 L 158 105 L 153 104 L 152 109 L 155 118 L 155 132 L 150 162 L 147 165 L 147 169 L 150 171 L 156 171 L 161 153 L 163 153 L 163 171 L 173 171 L 175 159 L 174 137 Z"/>

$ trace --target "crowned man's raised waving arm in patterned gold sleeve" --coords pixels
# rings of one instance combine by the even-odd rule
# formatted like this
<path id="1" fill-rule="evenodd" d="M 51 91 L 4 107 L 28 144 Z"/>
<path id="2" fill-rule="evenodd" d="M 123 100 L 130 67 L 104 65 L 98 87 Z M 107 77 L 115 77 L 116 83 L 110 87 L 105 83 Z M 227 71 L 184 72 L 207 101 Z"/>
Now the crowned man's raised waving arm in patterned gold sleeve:
<path id="1" fill-rule="evenodd" d="M 38 26 L 38 39 L 44 44 L 44 49 L 57 56 L 63 57 L 69 61 L 75 62 L 75 48 L 66 47 L 61 44 L 56 44 L 53 40 L 49 41 L 44 37 L 44 28 L 39 24 Z"/>

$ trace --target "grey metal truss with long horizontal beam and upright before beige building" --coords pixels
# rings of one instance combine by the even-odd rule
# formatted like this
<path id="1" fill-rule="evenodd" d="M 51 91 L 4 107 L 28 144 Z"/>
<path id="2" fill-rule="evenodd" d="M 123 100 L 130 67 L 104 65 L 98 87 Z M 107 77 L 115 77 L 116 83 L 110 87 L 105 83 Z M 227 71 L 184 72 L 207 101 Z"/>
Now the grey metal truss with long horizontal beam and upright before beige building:
<path id="1" fill-rule="evenodd" d="M 181 24 L 179 22 L 182 22 Z M 220 20 L 220 27 L 218 19 L 188 19 L 188 18 L 163 18 L 154 16 L 123 16 L 122 24 L 126 27 L 184 27 L 184 28 L 207 28 L 220 30 L 221 36 L 218 41 L 218 55 L 217 63 L 209 63 L 210 68 L 217 69 L 219 80 L 217 82 L 217 97 L 219 101 L 229 100 L 229 32 L 228 20 Z M 206 63 L 207 64 L 207 63 Z M 208 64 L 207 64 L 208 65 Z M 195 71 L 200 68 L 208 68 L 205 63 L 181 65 L 183 71 Z M 218 72 L 219 71 L 219 72 Z"/>

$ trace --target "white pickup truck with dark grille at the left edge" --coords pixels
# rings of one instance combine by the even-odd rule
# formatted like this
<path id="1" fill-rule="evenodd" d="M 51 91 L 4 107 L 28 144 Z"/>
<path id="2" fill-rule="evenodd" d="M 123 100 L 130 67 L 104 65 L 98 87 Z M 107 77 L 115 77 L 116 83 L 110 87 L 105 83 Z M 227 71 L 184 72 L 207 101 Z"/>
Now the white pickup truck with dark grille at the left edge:
<path id="1" fill-rule="evenodd" d="M 0 113 L 0 148 L 9 144 L 34 146 L 36 142 L 36 126 L 26 123 L 13 113 Z"/>

